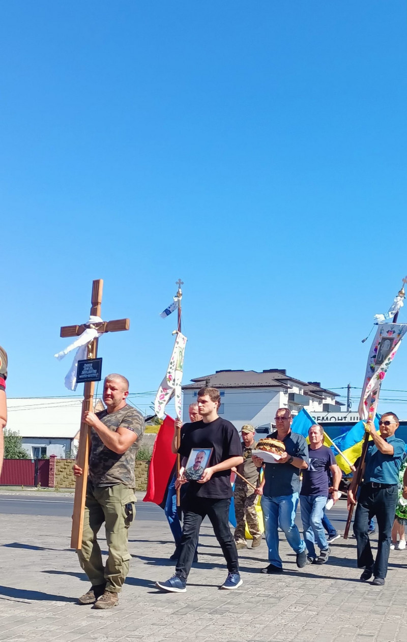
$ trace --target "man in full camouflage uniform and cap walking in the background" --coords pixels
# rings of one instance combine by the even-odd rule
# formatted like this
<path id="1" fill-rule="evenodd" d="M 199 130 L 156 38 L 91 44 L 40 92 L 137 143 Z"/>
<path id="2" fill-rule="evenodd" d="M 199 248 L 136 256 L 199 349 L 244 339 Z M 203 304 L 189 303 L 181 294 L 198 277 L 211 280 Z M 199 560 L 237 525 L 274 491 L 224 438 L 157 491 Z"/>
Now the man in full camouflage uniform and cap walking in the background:
<path id="1" fill-rule="evenodd" d="M 243 440 L 243 464 L 239 465 L 236 469 L 238 473 L 243 475 L 248 482 L 255 486 L 259 485 L 259 470 L 255 467 L 252 461 L 252 450 L 255 449 L 256 444 L 254 441 L 254 427 L 246 424 L 241 429 L 241 437 Z M 246 523 L 250 535 L 253 537 L 252 548 L 257 548 L 261 544 L 261 530 L 259 528 L 259 519 L 255 510 L 255 501 L 257 493 L 255 490 L 248 486 L 246 482 L 236 476 L 234 483 L 234 512 L 236 515 L 236 528 L 234 531 L 234 540 L 236 548 L 247 548 L 245 530 Z M 245 523 L 246 522 L 246 523 Z"/>

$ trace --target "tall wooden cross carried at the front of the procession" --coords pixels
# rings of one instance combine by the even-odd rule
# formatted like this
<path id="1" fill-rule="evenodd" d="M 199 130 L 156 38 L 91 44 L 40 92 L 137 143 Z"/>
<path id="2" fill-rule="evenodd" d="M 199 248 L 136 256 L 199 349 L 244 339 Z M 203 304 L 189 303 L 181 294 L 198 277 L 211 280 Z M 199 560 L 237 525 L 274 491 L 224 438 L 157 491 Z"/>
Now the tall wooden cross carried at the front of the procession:
<path id="1" fill-rule="evenodd" d="M 103 279 L 97 279 L 92 285 L 92 308 L 91 316 L 100 317 L 101 314 L 101 297 L 103 291 Z M 61 328 L 60 336 L 78 336 L 82 334 L 87 327 L 94 327 L 98 333 L 119 332 L 130 328 L 130 319 L 118 319 L 116 321 L 103 321 L 87 325 L 64 325 Z M 94 339 L 88 345 L 87 358 L 95 359 L 98 355 L 98 339 Z M 80 424 L 80 437 L 78 455 L 76 463 L 82 468 L 83 474 L 76 478 L 75 496 L 73 505 L 73 521 L 71 532 L 71 548 L 82 548 L 83 533 L 83 514 L 85 512 L 85 497 L 87 487 L 87 476 L 89 470 L 89 443 L 91 437 L 91 428 L 83 421 L 85 412 L 93 410 L 94 381 L 85 383 L 82 402 L 82 417 Z"/>

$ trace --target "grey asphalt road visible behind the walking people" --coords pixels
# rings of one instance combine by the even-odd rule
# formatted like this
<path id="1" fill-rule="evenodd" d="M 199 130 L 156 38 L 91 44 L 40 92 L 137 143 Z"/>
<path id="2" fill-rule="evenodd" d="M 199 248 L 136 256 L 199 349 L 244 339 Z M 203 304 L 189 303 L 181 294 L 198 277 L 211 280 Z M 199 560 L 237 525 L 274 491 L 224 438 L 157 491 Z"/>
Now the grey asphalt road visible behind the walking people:
<path id="1" fill-rule="evenodd" d="M 42 497 L 37 498 L 32 495 L 1 495 L 0 494 L 0 514 L 13 515 L 46 515 L 50 517 L 71 517 L 73 512 L 73 497 Z M 166 521 L 164 510 L 152 503 L 137 501 L 136 519 L 150 521 Z M 335 528 L 343 532 L 347 519 L 346 502 L 340 499 L 338 503 L 327 511 L 329 520 Z M 297 510 L 297 524 L 301 528 L 300 509 Z"/>

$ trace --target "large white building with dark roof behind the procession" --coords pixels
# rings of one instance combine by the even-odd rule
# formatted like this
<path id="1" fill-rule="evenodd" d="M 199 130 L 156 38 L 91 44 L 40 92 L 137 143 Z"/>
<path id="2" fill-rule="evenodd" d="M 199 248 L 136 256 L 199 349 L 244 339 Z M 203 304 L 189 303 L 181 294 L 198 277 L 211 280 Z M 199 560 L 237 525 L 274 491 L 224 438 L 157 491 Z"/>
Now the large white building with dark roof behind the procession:
<path id="1" fill-rule="evenodd" d="M 338 395 L 321 388 L 319 381 L 300 381 L 286 370 L 216 370 L 214 374 L 191 379 L 182 386 L 184 392 L 183 419 L 189 421 L 188 407 L 197 398 L 198 390 L 212 386 L 220 391 L 219 414 L 238 428 L 253 424 L 255 428 L 270 428 L 277 408 L 289 408 L 296 415 L 302 408 L 316 412 L 340 412 Z"/>

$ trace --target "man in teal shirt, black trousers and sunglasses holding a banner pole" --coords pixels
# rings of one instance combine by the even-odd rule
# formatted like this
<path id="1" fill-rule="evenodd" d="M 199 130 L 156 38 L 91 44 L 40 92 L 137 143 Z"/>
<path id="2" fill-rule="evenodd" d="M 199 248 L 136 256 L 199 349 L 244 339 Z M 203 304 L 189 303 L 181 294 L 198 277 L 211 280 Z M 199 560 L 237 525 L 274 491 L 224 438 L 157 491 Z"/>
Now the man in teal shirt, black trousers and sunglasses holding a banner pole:
<path id="1" fill-rule="evenodd" d="M 365 430 L 370 433 L 365 462 L 363 464 L 360 495 L 356 507 L 353 531 L 358 544 L 358 568 L 365 567 L 360 576 L 361 582 L 367 582 L 374 575 L 372 584 L 383 586 L 387 573 L 388 555 L 392 539 L 399 471 L 403 462 L 403 440 L 394 436 L 399 428 L 399 419 L 394 412 L 381 415 L 379 433 L 374 423 L 367 423 Z M 356 473 L 353 477 L 356 480 Z M 348 490 L 348 508 L 356 504 L 354 481 Z M 368 522 L 377 518 L 379 537 L 377 541 L 376 560 L 373 559 L 368 538 Z"/>

